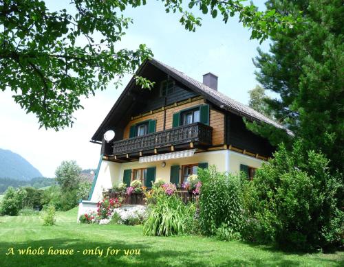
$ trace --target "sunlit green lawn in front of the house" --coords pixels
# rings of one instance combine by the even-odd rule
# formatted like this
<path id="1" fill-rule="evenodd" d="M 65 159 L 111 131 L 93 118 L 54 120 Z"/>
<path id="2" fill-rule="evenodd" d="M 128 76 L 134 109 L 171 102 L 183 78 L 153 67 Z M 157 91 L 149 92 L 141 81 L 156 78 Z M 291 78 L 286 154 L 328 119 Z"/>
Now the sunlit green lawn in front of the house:
<path id="1" fill-rule="evenodd" d="M 343 266 L 344 253 L 284 253 L 270 246 L 220 242 L 196 236 L 144 237 L 142 227 L 76 224 L 77 209 L 57 214 L 56 225 L 43 227 L 39 216 L 0 217 L 0 266 Z M 18 255 L 17 249 L 45 249 L 45 255 Z M 47 255 L 50 246 L 74 249 L 75 255 Z M 104 249 L 103 257 L 83 255 Z M 105 257 L 107 247 L 121 249 Z M 13 247 L 15 255 L 7 255 Z M 125 256 L 124 249 L 140 249 Z"/>

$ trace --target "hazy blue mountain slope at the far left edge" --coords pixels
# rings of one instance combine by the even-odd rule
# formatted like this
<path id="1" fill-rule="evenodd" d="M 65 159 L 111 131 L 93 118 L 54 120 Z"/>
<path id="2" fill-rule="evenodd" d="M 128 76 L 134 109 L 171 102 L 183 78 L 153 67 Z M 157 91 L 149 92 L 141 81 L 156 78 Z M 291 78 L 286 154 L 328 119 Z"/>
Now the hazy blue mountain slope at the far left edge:
<path id="1" fill-rule="evenodd" d="M 0 178 L 28 181 L 42 176 L 41 172 L 22 156 L 10 150 L 0 148 Z"/>

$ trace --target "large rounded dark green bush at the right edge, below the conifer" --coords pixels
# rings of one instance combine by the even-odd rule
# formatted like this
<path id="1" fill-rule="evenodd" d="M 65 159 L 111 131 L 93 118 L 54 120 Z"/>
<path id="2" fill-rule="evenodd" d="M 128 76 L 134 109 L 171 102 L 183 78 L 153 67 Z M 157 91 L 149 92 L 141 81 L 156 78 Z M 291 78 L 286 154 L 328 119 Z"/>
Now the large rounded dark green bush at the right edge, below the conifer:
<path id="1" fill-rule="evenodd" d="M 246 237 L 305 250 L 343 244 L 344 216 L 336 198 L 342 180 L 330 174 L 323 154 L 302 151 L 299 142 L 292 152 L 279 146 L 257 170 L 244 231 L 252 234 Z"/>

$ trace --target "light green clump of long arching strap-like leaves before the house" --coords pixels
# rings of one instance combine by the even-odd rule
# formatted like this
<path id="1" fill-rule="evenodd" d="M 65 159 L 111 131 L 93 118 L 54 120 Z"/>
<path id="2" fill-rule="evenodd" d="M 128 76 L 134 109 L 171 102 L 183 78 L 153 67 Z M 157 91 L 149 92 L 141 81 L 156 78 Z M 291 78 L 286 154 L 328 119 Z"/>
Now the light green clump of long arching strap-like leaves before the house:
<path id="1" fill-rule="evenodd" d="M 144 235 L 179 235 L 186 233 L 186 222 L 193 217 L 177 194 L 166 194 L 162 187 L 149 196 L 149 216 L 144 222 Z"/>

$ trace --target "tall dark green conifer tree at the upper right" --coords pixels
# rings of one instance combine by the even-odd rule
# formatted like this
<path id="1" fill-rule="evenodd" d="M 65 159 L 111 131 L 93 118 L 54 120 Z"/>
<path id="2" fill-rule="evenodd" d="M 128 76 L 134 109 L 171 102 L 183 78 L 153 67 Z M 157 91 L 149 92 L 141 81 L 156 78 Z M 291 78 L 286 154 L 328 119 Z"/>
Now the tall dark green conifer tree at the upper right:
<path id="1" fill-rule="evenodd" d="M 269 108 L 304 148 L 322 151 L 332 170 L 343 172 L 343 2 L 271 0 L 266 6 L 288 16 L 302 12 L 307 21 L 307 27 L 295 25 L 272 36 L 269 53 L 258 50 L 257 80 L 279 94 L 268 100 Z M 265 126 L 251 129 L 273 138 Z"/>

